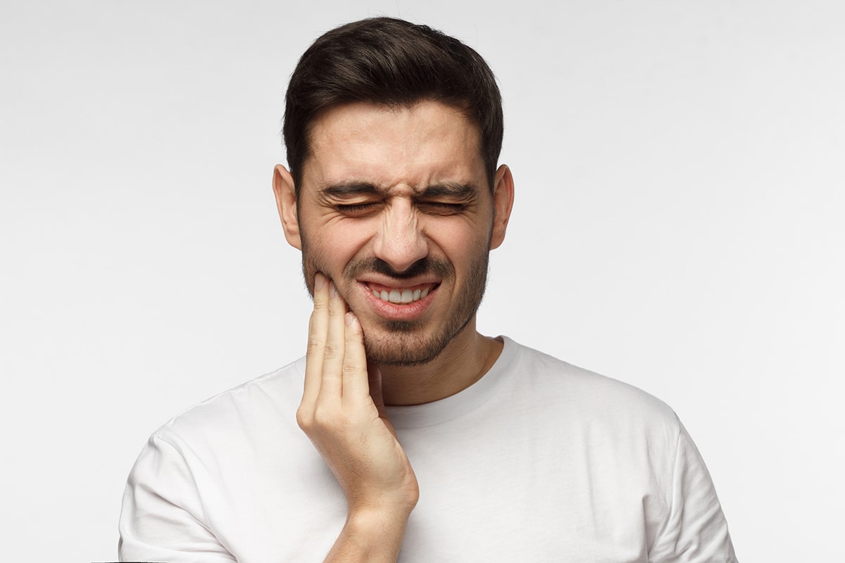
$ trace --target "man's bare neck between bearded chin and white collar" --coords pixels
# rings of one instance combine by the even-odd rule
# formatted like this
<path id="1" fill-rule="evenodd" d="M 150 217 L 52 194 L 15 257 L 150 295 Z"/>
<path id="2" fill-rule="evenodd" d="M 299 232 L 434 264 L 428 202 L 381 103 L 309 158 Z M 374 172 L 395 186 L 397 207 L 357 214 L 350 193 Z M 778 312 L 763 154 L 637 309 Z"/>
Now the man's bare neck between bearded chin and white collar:
<path id="1" fill-rule="evenodd" d="M 502 343 L 477 333 L 475 320 L 427 364 L 379 365 L 386 405 L 431 403 L 450 397 L 487 373 L 502 352 Z"/>

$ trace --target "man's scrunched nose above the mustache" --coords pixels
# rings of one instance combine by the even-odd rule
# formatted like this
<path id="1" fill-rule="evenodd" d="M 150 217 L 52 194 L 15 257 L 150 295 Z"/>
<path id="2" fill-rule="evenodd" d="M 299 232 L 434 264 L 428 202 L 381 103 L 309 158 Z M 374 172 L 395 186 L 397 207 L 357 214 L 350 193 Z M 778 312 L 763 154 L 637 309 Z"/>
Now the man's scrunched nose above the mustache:
<path id="1" fill-rule="evenodd" d="M 428 239 L 409 199 L 395 198 L 384 209 L 373 252 L 396 272 L 404 272 L 428 255 Z"/>

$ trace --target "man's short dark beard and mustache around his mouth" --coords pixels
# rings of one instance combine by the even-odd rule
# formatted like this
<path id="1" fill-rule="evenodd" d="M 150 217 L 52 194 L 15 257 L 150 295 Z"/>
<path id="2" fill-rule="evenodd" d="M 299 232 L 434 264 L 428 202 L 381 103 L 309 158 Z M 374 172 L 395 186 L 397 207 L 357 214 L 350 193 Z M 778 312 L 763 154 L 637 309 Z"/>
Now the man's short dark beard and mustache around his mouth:
<path id="1" fill-rule="evenodd" d="M 481 246 L 481 245 L 479 245 Z M 364 349 L 367 359 L 381 365 L 413 366 L 423 365 L 437 358 L 446 346 L 458 335 L 475 317 L 478 306 L 481 305 L 484 296 L 484 289 L 487 285 L 487 273 L 489 262 L 489 244 L 485 248 L 479 248 L 477 256 L 468 264 L 466 283 L 457 290 L 455 287 L 455 267 L 453 264 L 441 257 L 423 257 L 410 268 L 402 272 L 396 272 L 390 268 L 388 263 L 378 257 L 361 257 L 352 259 L 346 264 L 343 270 L 344 287 L 337 285 L 338 292 L 348 304 L 348 296 L 343 295 L 346 288 L 352 288 L 357 284 L 357 278 L 363 273 L 375 272 L 390 276 L 397 281 L 410 279 L 421 274 L 434 274 L 441 279 L 438 290 L 446 282 L 452 282 L 451 287 L 457 290 L 452 300 L 450 310 L 446 312 L 445 318 L 439 322 L 433 332 L 427 330 L 427 325 L 433 325 L 439 319 L 428 321 L 394 321 L 376 318 L 375 326 L 365 326 L 362 322 Z M 313 296 L 313 279 L 317 272 L 326 273 L 327 268 L 318 257 L 308 252 L 308 244 L 303 238 L 303 275 L 308 292 Z M 443 295 L 441 299 L 448 298 Z M 357 312 L 350 309 L 353 313 Z M 369 321 L 370 317 L 365 317 Z M 441 316 L 442 318 L 442 316 Z M 358 316 L 361 321 L 362 317 Z"/>

